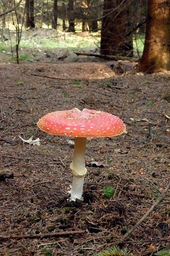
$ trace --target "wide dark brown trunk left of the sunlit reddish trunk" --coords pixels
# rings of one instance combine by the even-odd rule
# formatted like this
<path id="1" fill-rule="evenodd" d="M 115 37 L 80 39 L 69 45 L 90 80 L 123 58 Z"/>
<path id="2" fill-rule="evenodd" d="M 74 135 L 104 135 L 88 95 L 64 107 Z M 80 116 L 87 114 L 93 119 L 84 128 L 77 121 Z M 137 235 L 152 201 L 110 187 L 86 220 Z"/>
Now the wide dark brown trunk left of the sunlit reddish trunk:
<path id="1" fill-rule="evenodd" d="M 100 53 L 133 56 L 132 1 L 104 0 Z"/>

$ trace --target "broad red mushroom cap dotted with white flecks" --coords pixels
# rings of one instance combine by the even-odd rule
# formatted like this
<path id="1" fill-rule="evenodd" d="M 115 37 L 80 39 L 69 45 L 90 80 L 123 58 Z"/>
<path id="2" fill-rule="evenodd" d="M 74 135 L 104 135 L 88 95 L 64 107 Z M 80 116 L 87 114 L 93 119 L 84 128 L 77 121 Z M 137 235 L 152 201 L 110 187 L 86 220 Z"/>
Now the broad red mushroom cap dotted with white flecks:
<path id="1" fill-rule="evenodd" d="M 86 108 L 51 112 L 42 117 L 37 126 L 52 135 L 71 137 L 112 137 L 125 131 L 120 118 Z"/>

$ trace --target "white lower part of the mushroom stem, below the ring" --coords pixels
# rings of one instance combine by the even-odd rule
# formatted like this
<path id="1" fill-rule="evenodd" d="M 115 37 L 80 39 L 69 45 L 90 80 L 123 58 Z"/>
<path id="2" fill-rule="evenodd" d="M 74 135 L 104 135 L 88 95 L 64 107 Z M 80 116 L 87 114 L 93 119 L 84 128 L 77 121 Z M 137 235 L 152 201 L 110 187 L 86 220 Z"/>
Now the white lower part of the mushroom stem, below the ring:
<path id="1" fill-rule="evenodd" d="M 71 197 L 70 199 L 72 201 L 75 201 L 75 199 L 79 199 L 83 201 L 83 184 L 84 184 L 84 177 L 78 178 L 75 175 L 73 175 L 73 181 L 72 181 L 72 189 L 70 191 Z"/>

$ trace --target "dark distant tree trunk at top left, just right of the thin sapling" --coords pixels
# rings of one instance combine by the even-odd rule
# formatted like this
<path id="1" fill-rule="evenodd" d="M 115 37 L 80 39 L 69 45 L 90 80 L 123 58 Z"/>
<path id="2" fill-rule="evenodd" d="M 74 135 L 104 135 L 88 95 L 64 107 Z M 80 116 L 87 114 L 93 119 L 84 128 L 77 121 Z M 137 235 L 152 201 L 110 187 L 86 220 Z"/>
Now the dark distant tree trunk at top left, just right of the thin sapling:
<path id="1" fill-rule="evenodd" d="M 34 23 L 34 0 L 25 1 L 26 28 L 35 28 Z"/>

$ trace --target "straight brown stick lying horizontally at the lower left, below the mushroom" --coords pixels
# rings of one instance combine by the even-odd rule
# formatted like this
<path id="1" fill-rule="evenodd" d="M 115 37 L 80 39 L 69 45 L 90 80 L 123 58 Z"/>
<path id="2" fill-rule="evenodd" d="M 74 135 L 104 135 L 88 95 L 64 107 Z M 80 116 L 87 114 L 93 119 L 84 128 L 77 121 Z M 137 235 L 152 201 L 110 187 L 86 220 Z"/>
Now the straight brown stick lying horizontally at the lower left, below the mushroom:
<path id="1" fill-rule="evenodd" d="M 64 235 L 74 235 L 74 234 L 83 234 L 87 230 L 77 230 L 77 231 L 63 231 L 63 232 L 53 232 L 53 233 L 44 233 L 44 234 L 25 234 L 25 235 L 0 235 L 0 239 L 26 239 L 33 237 L 45 237 L 45 236 L 64 236 Z"/>

